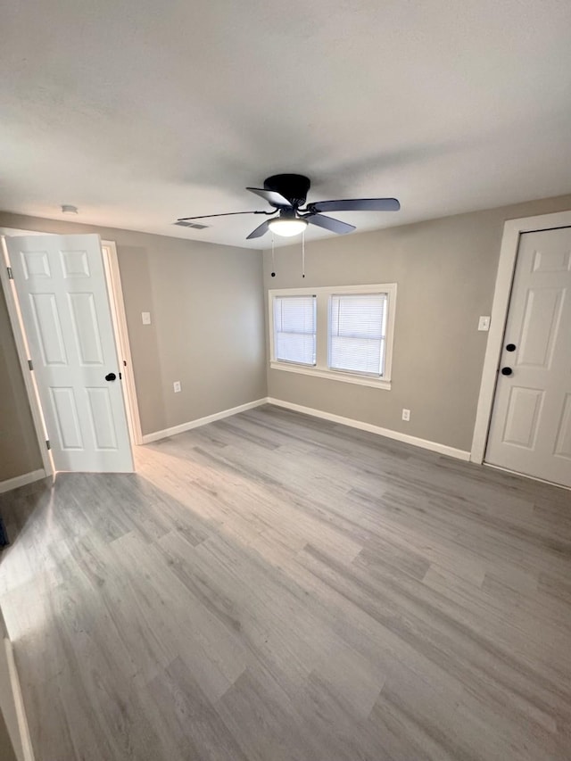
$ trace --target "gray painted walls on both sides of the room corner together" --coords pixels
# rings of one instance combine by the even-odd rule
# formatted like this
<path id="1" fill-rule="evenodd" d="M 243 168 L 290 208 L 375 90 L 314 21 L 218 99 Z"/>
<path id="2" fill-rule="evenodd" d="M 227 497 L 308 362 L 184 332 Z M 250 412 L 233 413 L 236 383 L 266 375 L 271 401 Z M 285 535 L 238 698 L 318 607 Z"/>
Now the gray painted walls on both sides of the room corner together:
<path id="1" fill-rule="evenodd" d="M 266 369 L 260 252 L 5 212 L 0 227 L 117 243 L 144 433 L 268 394 L 469 450 L 487 338 L 477 318 L 490 314 L 503 223 L 567 209 L 571 195 L 311 243 L 305 280 L 299 244 L 277 250 L 275 278 L 264 253 L 266 291 L 399 284 L 389 392 Z M 2 481 L 41 462 L 2 298 L 0 322 L 0 389 L 19 400 L 2 408 Z M 172 392 L 174 380 L 182 393 Z M 412 410 L 408 424 L 402 407 Z"/>

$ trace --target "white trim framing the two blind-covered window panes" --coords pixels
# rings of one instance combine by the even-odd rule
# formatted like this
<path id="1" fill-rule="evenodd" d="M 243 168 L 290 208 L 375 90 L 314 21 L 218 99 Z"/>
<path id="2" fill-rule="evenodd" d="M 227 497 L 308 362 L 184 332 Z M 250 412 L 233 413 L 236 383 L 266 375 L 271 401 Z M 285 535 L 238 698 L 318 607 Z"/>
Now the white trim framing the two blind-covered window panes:
<path id="1" fill-rule="evenodd" d="M 387 331 L 385 335 L 385 375 L 382 378 L 352 373 L 347 370 L 332 370 L 327 366 L 328 352 L 328 311 L 329 296 L 340 294 L 386 294 Z M 276 359 L 274 347 L 274 298 L 277 296 L 317 297 L 317 361 L 313 367 Z M 377 283 L 375 285 L 327 285 L 319 288 L 279 288 L 268 292 L 269 309 L 269 367 L 287 373 L 299 373 L 304 376 L 327 378 L 373 388 L 391 390 L 391 373 L 393 367 L 394 315 L 396 312 L 396 283 Z"/>

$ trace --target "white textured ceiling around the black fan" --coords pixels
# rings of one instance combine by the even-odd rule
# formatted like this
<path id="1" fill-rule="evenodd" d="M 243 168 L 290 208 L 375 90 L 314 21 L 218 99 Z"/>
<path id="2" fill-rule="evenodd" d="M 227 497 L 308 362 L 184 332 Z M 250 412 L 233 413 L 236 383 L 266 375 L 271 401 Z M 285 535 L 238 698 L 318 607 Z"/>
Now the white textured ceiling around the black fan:
<path id="1" fill-rule="evenodd" d="M 276 172 L 401 200 L 360 230 L 567 193 L 570 34 L 569 0 L 4 4 L 0 208 L 251 246 L 172 222 Z"/>

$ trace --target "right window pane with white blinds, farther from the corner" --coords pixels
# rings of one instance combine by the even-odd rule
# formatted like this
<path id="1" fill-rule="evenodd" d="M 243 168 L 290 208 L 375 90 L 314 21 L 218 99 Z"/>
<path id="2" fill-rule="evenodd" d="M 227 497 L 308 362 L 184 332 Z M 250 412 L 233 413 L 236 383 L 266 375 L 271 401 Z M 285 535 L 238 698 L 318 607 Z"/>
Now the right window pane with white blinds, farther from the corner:
<path id="1" fill-rule="evenodd" d="M 383 376 L 385 327 L 386 294 L 330 296 L 329 368 Z"/>

